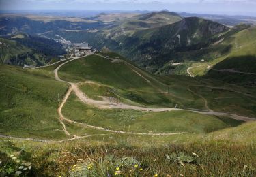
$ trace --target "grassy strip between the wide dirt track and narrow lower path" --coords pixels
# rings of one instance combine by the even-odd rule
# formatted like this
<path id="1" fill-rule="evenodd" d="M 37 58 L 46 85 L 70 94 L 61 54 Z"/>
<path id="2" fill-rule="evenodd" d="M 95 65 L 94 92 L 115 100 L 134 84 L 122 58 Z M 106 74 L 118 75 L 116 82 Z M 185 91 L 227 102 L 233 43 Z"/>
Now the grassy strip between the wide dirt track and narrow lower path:
<path id="1" fill-rule="evenodd" d="M 73 111 L 70 111 L 73 110 Z M 63 108 L 64 116 L 81 123 L 142 133 L 207 133 L 229 127 L 215 116 L 193 112 L 141 112 L 136 110 L 100 110 L 87 106 L 73 95 Z"/>

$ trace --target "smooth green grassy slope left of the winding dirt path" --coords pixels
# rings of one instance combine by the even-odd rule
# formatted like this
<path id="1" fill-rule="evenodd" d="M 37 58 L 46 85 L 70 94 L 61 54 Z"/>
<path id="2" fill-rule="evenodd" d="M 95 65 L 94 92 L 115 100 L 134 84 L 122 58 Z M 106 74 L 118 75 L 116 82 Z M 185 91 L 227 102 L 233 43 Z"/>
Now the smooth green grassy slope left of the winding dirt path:
<path id="1" fill-rule="evenodd" d="M 0 65 L 0 131 L 5 135 L 35 138 L 64 138 L 57 120 L 57 95 L 66 84 L 38 70 Z"/>

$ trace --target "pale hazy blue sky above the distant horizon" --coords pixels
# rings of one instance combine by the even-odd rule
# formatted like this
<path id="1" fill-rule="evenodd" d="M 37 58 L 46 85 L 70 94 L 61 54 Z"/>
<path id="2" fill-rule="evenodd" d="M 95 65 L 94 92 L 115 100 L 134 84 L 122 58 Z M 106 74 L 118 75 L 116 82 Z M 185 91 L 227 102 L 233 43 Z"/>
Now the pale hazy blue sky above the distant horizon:
<path id="1" fill-rule="evenodd" d="M 256 0 L 0 0 L 0 10 L 169 10 L 256 16 Z"/>

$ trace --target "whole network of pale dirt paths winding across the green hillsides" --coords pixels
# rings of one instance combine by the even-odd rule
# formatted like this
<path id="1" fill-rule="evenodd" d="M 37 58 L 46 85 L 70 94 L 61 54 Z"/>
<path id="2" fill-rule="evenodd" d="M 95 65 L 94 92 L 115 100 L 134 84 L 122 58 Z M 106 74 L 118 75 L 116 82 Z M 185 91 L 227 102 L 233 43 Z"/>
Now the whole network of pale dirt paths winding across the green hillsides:
<path id="1" fill-rule="evenodd" d="M 91 55 L 91 54 L 88 54 L 88 55 Z M 87 56 L 88 56 L 87 55 Z M 99 55 L 100 56 L 100 55 Z M 246 116 L 239 116 L 239 115 L 236 115 L 236 114 L 229 114 L 229 113 L 224 113 L 224 112 L 215 112 L 213 110 L 210 110 L 210 108 L 208 108 L 208 103 L 207 103 L 207 100 L 193 92 L 189 86 L 188 86 L 188 90 L 190 92 L 193 92 L 195 95 L 201 97 L 204 101 L 205 101 L 205 108 L 207 109 L 206 111 L 201 111 L 201 110 L 186 110 L 186 109 L 179 109 L 179 108 L 145 108 L 145 107 L 140 107 L 140 106 L 131 106 L 131 105 L 127 105 L 127 104 L 124 104 L 124 103 L 111 103 L 110 101 L 96 101 L 94 99 L 90 99 L 89 97 L 87 97 L 87 95 L 85 95 L 83 93 L 83 91 L 81 91 L 79 89 L 79 86 L 78 84 L 79 83 L 73 83 L 73 82 L 67 82 L 65 80 L 61 80 L 61 78 L 59 78 L 59 75 L 58 75 L 58 71 L 59 69 L 63 66 L 63 65 L 66 65 L 66 63 L 69 63 L 70 61 L 74 61 L 76 59 L 81 59 L 81 58 L 84 58 L 85 56 L 83 57 L 74 57 L 72 59 L 65 59 L 63 61 L 66 61 L 64 63 L 61 63 L 61 65 L 59 65 L 55 70 L 54 70 L 54 74 L 55 74 L 55 80 L 59 81 L 59 82 L 65 82 L 67 84 L 70 84 L 70 88 L 68 88 L 68 91 L 65 95 L 65 97 L 63 97 L 62 101 L 61 101 L 61 104 L 59 106 L 59 108 L 57 109 L 57 112 L 59 114 L 59 122 L 61 123 L 61 125 L 63 126 L 63 131 L 64 133 L 66 133 L 66 135 L 68 136 L 72 136 L 72 138 L 69 138 L 69 139 L 66 139 L 66 140 L 42 140 L 42 139 L 33 139 L 33 138 L 16 138 L 16 137 L 13 137 L 13 136 L 9 136 L 9 135 L 0 135 L 0 138 L 11 138 L 11 139 L 15 139 L 15 140 L 31 140 L 31 141 L 36 141 L 36 142 L 65 142 L 65 141 L 70 141 L 70 140 L 76 140 L 76 139 L 80 139 L 80 138 L 88 138 L 88 137 L 91 137 L 91 136 L 96 136 L 96 135 L 85 135 L 85 136 L 77 136 L 77 135 L 72 135 L 68 132 L 68 130 L 66 129 L 66 125 L 65 123 L 63 123 L 63 121 L 66 121 L 67 123 L 73 123 L 73 124 L 76 124 L 76 125 L 81 125 L 83 127 L 89 127 L 91 129 L 97 129 L 97 130 L 100 130 L 100 131 L 106 131 L 106 132 L 111 132 L 111 133 L 120 133 L 120 134 L 130 134 L 130 135 L 181 135 L 181 134 L 190 134 L 189 132 L 178 132 L 178 133 L 136 133 L 136 132 L 126 132 L 126 131 L 115 131 L 115 130 L 110 130 L 110 129 L 104 129 L 103 127 L 97 127 L 97 126 L 93 126 L 93 125 L 87 125 L 86 123 L 79 123 L 79 122 L 76 122 L 74 120 L 70 120 L 68 118 L 66 118 L 65 116 L 63 116 L 61 110 L 63 108 L 63 106 L 65 105 L 66 101 L 68 100 L 68 97 L 70 96 L 70 93 L 72 93 L 72 91 L 74 91 L 74 93 L 76 94 L 76 96 L 81 100 L 83 101 L 83 103 L 86 103 L 86 104 L 89 104 L 89 105 L 92 105 L 92 106 L 96 106 L 98 108 L 101 108 L 101 109 L 111 109 L 111 108 L 118 108 L 118 109 L 130 109 L 130 110 L 141 110 L 141 111 L 151 111 L 151 112 L 165 112 L 165 111 L 172 111 L 172 110 L 180 110 L 180 111 L 190 111 L 190 112 L 197 112 L 199 114 L 205 114 L 205 115 L 215 115 L 215 116 L 229 116 L 233 119 L 236 119 L 236 120 L 243 120 L 243 121 L 255 121 L 256 119 L 255 118 L 249 118 L 249 117 L 246 117 Z M 100 56 L 102 57 L 102 56 Z M 60 63 L 60 62 L 63 62 L 63 61 L 59 61 L 57 63 Z M 126 63 L 126 62 L 124 62 Z M 56 63 L 53 63 L 51 65 L 55 65 Z M 126 63 L 126 65 L 130 65 L 130 63 Z M 49 65 L 46 65 L 46 66 L 43 66 L 43 67 L 48 67 Z M 132 66 L 133 67 L 133 66 Z M 197 66 L 197 67 L 201 67 L 200 66 Z M 39 68 L 42 68 L 42 67 L 39 67 Z M 189 67 L 187 69 L 187 72 L 188 74 L 190 75 L 190 77 L 193 77 L 193 74 L 190 73 L 190 69 L 193 68 L 193 67 Z M 137 73 L 139 76 L 141 76 L 144 80 L 146 80 L 147 82 L 151 83 L 150 80 L 147 80 L 147 78 L 145 78 L 144 76 L 142 76 L 141 74 L 139 74 L 138 71 L 135 71 L 134 69 L 132 69 L 135 73 Z M 155 78 L 154 78 L 155 80 Z M 158 81 L 158 80 L 157 80 Z M 89 81 L 88 81 L 89 82 Z M 159 82 L 159 81 L 158 81 Z M 161 84 L 163 84 L 162 82 L 160 82 Z M 205 87 L 208 87 L 208 86 L 205 86 Z M 210 87 L 210 86 L 209 86 Z M 210 88 L 214 88 L 214 87 L 210 87 Z M 223 88 L 219 88 L 219 87 L 215 87 L 217 89 L 223 89 Z M 238 92 L 240 93 L 240 92 Z M 246 93 L 242 93 L 244 95 L 247 95 L 247 96 L 251 96 L 251 95 L 248 95 Z M 100 134 L 100 135 L 106 135 L 106 134 Z"/>

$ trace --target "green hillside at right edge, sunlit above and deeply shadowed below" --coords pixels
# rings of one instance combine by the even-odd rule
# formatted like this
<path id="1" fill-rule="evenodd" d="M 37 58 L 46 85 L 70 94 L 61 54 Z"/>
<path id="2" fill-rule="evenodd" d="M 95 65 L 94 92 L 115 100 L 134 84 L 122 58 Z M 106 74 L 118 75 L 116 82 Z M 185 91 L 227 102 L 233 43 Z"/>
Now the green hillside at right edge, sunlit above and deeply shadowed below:
<path id="1" fill-rule="evenodd" d="M 196 58 L 203 62 L 181 62 L 174 66 L 173 61 L 165 64 L 158 74 L 173 73 L 203 76 L 243 86 L 255 85 L 255 27 L 234 27 L 217 37 L 218 42 L 195 52 L 183 52 L 178 58 L 190 60 Z"/>

